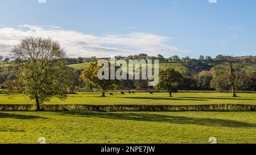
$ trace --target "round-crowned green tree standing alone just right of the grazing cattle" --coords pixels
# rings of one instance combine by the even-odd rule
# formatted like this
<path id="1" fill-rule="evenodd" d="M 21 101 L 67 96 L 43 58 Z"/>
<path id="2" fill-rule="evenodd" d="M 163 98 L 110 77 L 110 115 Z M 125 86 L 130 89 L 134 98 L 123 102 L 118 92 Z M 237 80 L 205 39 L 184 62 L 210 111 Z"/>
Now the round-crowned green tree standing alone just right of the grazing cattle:
<path id="1" fill-rule="evenodd" d="M 177 91 L 177 86 L 180 85 L 182 79 L 183 76 L 174 68 L 166 68 L 164 70 L 160 70 L 159 83 L 156 88 L 168 91 L 170 97 L 172 97 L 172 92 Z"/>

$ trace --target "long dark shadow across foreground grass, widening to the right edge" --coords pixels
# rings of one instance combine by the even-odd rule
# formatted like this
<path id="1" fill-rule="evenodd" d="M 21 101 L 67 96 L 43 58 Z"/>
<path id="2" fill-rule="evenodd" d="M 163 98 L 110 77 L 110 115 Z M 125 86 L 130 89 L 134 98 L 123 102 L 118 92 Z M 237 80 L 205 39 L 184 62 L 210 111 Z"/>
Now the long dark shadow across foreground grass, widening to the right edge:
<path id="1" fill-rule="evenodd" d="M 159 114 L 143 114 L 134 112 L 122 113 L 105 113 L 105 112 L 62 112 L 65 115 L 76 115 L 86 118 L 104 118 L 104 119 L 119 119 L 119 120 L 134 120 L 141 122 L 159 122 L 171 124 L 192 124 L 204 125 L 209 127 L 256 127 L 256 124 L 240 122 L 237 120 L 228 119 L 213 119 L 213 118 L 193 118 L 187 116 L 170 116 Z"/>

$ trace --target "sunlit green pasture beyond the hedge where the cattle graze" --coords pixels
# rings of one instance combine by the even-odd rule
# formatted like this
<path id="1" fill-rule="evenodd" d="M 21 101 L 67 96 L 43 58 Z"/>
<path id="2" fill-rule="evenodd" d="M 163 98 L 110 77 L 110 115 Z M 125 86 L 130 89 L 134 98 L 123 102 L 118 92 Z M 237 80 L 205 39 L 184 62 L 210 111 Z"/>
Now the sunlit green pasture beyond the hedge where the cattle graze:
<path id="1" fill-rule="evenodd" d="M 168 93 L 136 93 L 121 95 L 114 93 L 114 96 L 106 94 L 101 98 L 101 93 L 79 93 L 68 95 L 67 100 L 53 98 L 46 104 L 256 104 L 256 94 L 237 94 L 233 98 L 229 93 L 174 93 L 173 98 Z M 27 104 L 34 103 L 23 95 L 0 94 L 0 104 Z"/>

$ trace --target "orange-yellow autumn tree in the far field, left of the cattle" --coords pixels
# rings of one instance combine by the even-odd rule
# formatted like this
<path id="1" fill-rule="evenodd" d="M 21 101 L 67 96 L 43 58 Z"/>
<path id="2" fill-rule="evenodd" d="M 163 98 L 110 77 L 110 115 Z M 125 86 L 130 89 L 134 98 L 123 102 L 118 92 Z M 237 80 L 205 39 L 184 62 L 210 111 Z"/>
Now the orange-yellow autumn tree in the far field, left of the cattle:
<path id="1" fill-rule="evenodd" d="M 102 80 L 99 79 L 98 72 L 100 69 L 101 67 L 98 66 L 98 62 L 94 62 L 90 64 L 89 67 L 82 72 L 81 78 L 84 79 L 85 82 L 92 83 L 92 85 L 100 89 L 102 91 L 101 97 L 105 97 L 105 92 L 109 89 L 113 89 L 114 87 L 117 87 L 118 81 L 110 80 L 110 79 L 102 79 Z M 110 74 L 110 73 L 105 73 L 105 74 Z"/>

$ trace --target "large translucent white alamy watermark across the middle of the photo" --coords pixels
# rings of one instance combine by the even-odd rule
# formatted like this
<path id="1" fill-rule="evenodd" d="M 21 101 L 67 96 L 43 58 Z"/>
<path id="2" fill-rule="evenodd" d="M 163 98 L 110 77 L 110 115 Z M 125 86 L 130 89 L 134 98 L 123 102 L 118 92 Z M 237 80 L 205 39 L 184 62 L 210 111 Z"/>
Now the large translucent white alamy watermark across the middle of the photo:
<path id="1" fill-rule="evenodd" d="M 127 64 L 126 60 L 111 58 L 110 63 L 108 60 L 99 60 L 98 66 L 101 67 L 98 71 L 100 80 L 144 79 L 148 81 L 148 86 L 156 86 L 159 83 L 159 60 L 154 60 L 154 63 L 152 60 L 128 60 Z"/>

